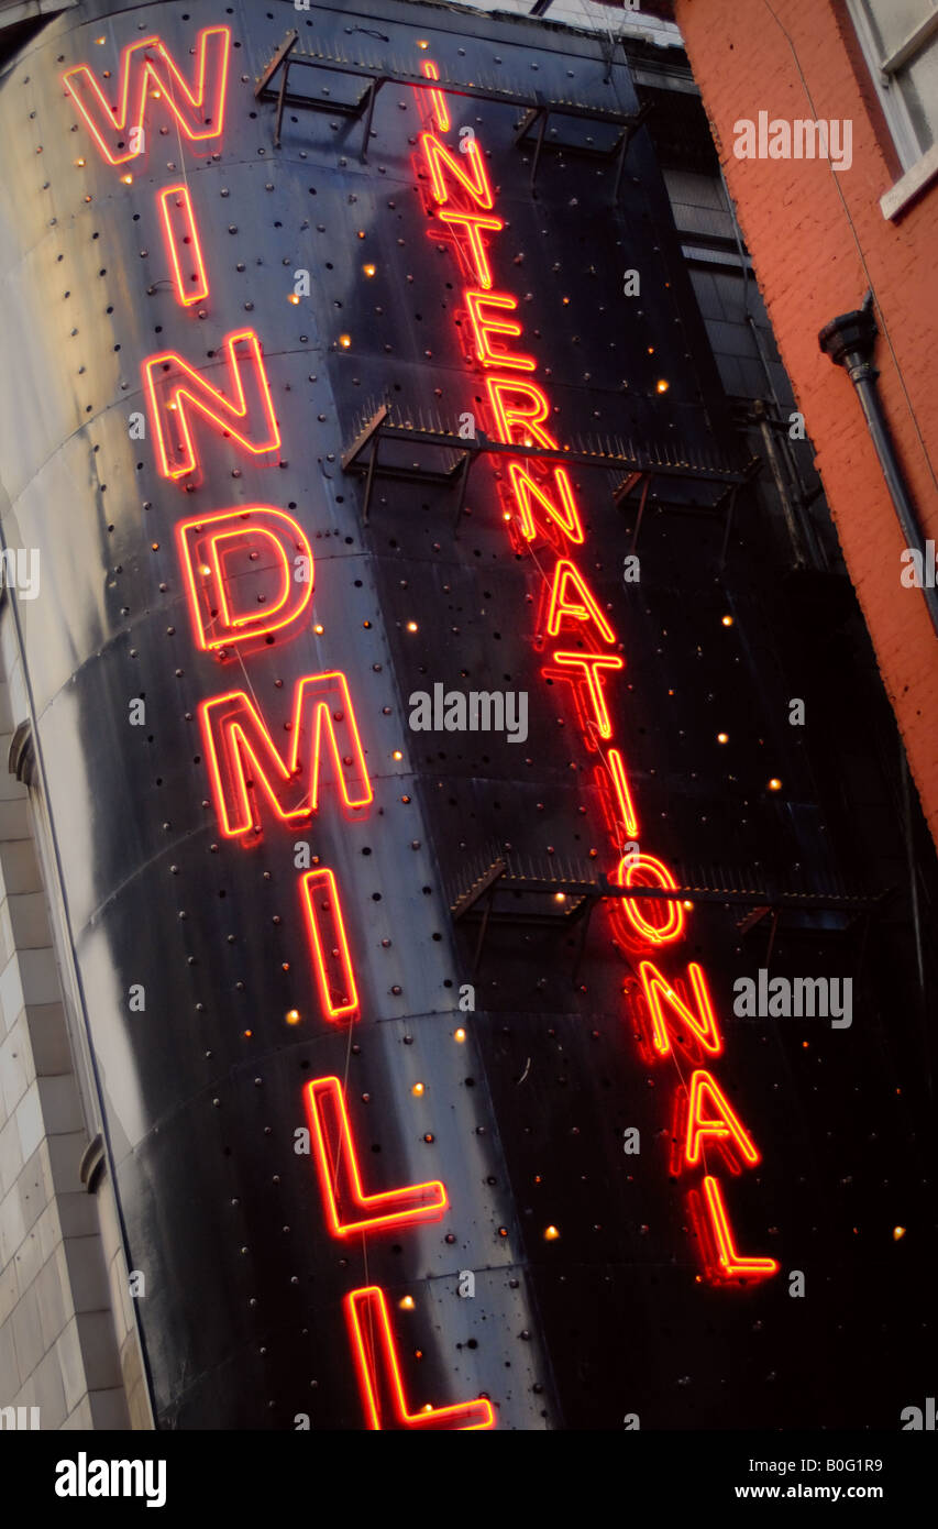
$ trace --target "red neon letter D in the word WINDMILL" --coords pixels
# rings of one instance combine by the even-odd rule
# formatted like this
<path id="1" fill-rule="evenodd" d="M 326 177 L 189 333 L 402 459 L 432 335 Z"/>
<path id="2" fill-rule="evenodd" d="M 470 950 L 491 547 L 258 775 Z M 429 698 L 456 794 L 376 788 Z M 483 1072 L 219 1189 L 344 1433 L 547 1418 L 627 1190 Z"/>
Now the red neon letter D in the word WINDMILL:
<path id="1" fill-rule="evenodd" d="M 280 631 L 298 621 L 309 605 L 313 552 L 306 532 L 284 511 L 252 505 L 251 509 L 194 515 L 179 521 L 176 537 L 200 648 L 222 648 Z M 298 555 L 306 560 L 309 575 L 301 583 L 293 576 Z M 275 598 L 269 589 L 272 569 L 280 584 Z M 255 601 L 252 610 L 249 598 Z"/>

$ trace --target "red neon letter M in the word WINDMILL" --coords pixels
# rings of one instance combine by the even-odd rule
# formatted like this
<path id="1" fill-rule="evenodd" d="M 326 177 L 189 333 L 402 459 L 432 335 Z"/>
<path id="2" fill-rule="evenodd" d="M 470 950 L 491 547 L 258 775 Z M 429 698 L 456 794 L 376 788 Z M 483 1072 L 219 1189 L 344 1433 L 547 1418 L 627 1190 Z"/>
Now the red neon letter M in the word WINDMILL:
<path id="1" fill-rule="evenodd" d="M 333 786 L 347 809 L 373 798 L 348 682 L 338 670 L 306 674 L 293 693 L 292 742 L 284 754 L 243 690 L 199 708 L 215 809 L 226 838 L 260 833 L 258 798 L 281 823 L 319 810 L 321 783 Z"/>

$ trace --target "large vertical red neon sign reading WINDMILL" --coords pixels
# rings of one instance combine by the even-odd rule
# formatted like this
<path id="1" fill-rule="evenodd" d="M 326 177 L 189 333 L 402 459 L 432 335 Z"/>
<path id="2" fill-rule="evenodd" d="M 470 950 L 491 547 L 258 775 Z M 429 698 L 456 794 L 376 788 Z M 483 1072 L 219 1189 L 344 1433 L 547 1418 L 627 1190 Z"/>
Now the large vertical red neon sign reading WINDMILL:
<path id="1" fill-rule="evenodd" d="M 86 64 L 66 70 L 63 83 L 99 153 L 116 167 L 145 151 L 145 119 L 151 101 L 170 110 L 189 144 L 220 142 L 229 49 L 228 26 L 199 32 L 192 49 L 196 76 L 189 84 L 162 38 L 147 37 L 131 43 L 121 55 L 118 106 L 108 104 Z M 425 75 L 435 78 L 432 67 L 426 67 Z M 449 125 L 443 96 L 438 92 L 435 96 L 438 116 Z M 446 177 L 455 174 L 483 206 L 490 206 L 492 193 L 480 153 L 469 156 L 471 170 L 464 170 L 445 145 L 437 142 L 428 151 L 435 156 L 443 200 Z M 191 310 L 208 297 L 209 280 L 196 208 L 185 180 L 157 191 L 157 209 L 173 268 L 174 297 Z M 480 226 L 492 226 L 492 220 L 480 222 Z M 481 249 L 478 229 L 475 237 Z M 498 306 L 496 300 L 489 306 Z M 481 306 L 478 312 L 481 326 Z M 480 332 L 486 336 L 498 333 L 498 321 L 489 315 Z M 501 326 L 501 332 L 513 332 L 513 327 Z M 226 335 L 222 352 L 228 370 L 226 390 L 214 387 L 174 350 L 142 361 L 157 468 L 162 477 L 180 488 L 180 480 L 197 472 L 200 465 L 192 413 L 220 431 L 235 451 L 260 459 L 280 450 L 280 425 L 260 336 L 252 329 L 234 330 Z M 244 667 L 246 647 L 251 648 L 258 638 L 269 639 L 273 631 L 283 635 L 296 628 L 312 604 L 309 537 L 283 509 L 254 505 L 186 517 L 177 521 L 176 547 L 196 647 L 206 654 L 226 657 L 234 648 Z M 296 557 L 306 561 L 307 576 L 299 581 L 292 578 Z M 272 601 L 267 589 L 258 592 L 254 576 L 246 581 L 246 561 L 258 564 L 254 573 L 273 578 L 277 590 Z M 249 595 L 254 595 L 254 605 Z M 264 609 L 258 610 L 258 605 Z M 228 690 L 202 702 L 199 720 L 215 812 L 222 833 L 229 839 L 257 841 L 261 803 L 272 809 L 281 829 L 309 820 L 324 807 L 322 784 L 332 787 L 330 803 L 335 806 L 338 797 L 348 816 L 361 818 L 373 801 L 350 683 L 339 670 L 307 674 L 296 683 L 289 725 L 292 743 L 286 757 L 246 690 Z M 336 873 L 319 865 L 316 858 L 316 868 L 299 878 L 298 890 L 322 1017 L 327 1023 L 350 1023 L 359 1012 L 359 995 Z M 370 1235 L 440 1219 L 448 1197 L 438 1180 L 365 1193 L 345 1098 L 336 1078 L 318 1078 L 309 1084 L 306 1107 L 332 1235 Z M 368 1428 L 477 1430 L 495 1425 L 495 1413 L 486 1398 L 452 1407 L 428 1405 L 416 1413 L 408 1410 L 388 1303 L 377 1286 L 351 1290 L 345 1298 L 345 1313 Z"/>

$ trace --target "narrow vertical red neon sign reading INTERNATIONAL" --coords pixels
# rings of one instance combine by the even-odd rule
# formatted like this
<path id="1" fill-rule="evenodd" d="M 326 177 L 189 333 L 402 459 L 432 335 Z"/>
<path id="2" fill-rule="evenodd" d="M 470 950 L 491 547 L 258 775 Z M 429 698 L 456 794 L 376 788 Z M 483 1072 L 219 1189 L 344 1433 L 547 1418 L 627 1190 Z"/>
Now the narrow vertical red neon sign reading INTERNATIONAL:
<path id="1" fill-rule="evenodd" d="M 431 78 L 437 78 L 434 73 Z M 426 131 L 420 135 L 423 176 L 429 182 L 431 196 L 426 211 L 434 220 L 431 237 L 438 239 L 438 223 L 445 223 L 457 251 L 460 265 L 471 272 L 463 292 L 475 339 L 475 362 L 484 375 L 489 401 L 490 433 L 503 445 L 535 443 L 545 451 L 556 451 L 558 440 L 547 428 L 551 419 L 551 404 L 544 388 L 533 381 L 536 361 L 522 352 L 507 349 L 509 342 L 522 338 L 522 326 L 515 320 L 518 303 L 509 292 L 493 291 L 492 263 L 480 232 L 481 208 L 487 214 L 484 228 L 498 232 L 495 197 L 486 173 L 484 154 L 474 135 L 460 157 L 463 167 L 449 153 L 440 135 L 449 130 L 449 113 L 440 110 L 440 92 L 423 92 L 416 87 L 422 113 L 429 116 Z M 428 96 L 429 112 L 423 96 Z M 526 376 L 518 376 L 524 372 Z M 501 375 L 500 375 L 501 373 Z M 558 552 L 553 573 L 547 573 L 545 630 L 547 636 L 562 639 L 576 631 L 587 651 L 556 648 L 550 651 L 542 674 L 550 682 L 564 680 L 570 685 L 573 708 L 585 748 L 600 754 L 597 774 L 602 778 L 605 818 L 614 850 L 622 856 L 614 872 L 614 881 L 622 888 L 660 887 L 669 893 L 655 898 L 616 899 L 611 910 L 613 931 L 625 959 L 639 959 L 640 992 L 643 1001 L 642 1020 L 651 1029 L 652 1055 L 672 1057 L 671 1026 L 678 1023 L 692 1044 L 704 1055 L 718 1057 L 723 1040 L 716 1027 L 713 1005 L 704 971 L 695 962 L 687 966 L 687 982 L 697 1012 L 691 1008 L 689 994 L 681 979 L 668 979 L 648 959 L 655 959 L 663 946 L 681 939 L 686 925 L 684 908 L 678 898 L 677 882 L 668 865 L 654 855 L 632 853 L 637 844 L 628 844 L 639 832 L 639 818 L 632 803 L 628 771 L 622 749 L 614 743 L 616 726 L 610 713 L 610 688 L 625 668 L 625 659 L 617 653 L 603 651 L 616 644 L 616 631 L 600 610 L 585 578 L 558 543 L 567 538 L 584 544 L 582 520 L 570 477 L 564 468 L 553 468 L 556 498 L 532 476 L 532 457 L 509 462 L 507 477 L 510 494 L 506 503 L 506 521 L 515 546 L 530 544 L 538 532 Z M 539 564 L 538 564 L 539 566 Z M 544 609 L 544 607 L 542 607 Z M 613 708 L 614 713 L 619 708 Z M 611 745 L 602 748 L 602 745 Z M 640 959 L 645 957 L 645 959 Z M 704 1069 L 692 1073 L 689 1089 L 678 1069 L 678 1098 L 686 1095 L 686 1133 L 680 1153 L 678 1171 L 703 1167 L 700 1188 L 689 1196 L 691 1219 L 706 1277 L 712 1283 L 732 1280 L 761 1280 L 778 1272 L 775 1258 L 746 1257 L 736 1251 L 723 1187 L 707 1164 L 707 1145 L 720 1153 L 732 1173 L 752 1168 L 759 1162 L 759 1153 L 750 1133 L 732 1110 L 716 1079 Z M 730 1144 L 735 1154 L 730 1151 Z"/>

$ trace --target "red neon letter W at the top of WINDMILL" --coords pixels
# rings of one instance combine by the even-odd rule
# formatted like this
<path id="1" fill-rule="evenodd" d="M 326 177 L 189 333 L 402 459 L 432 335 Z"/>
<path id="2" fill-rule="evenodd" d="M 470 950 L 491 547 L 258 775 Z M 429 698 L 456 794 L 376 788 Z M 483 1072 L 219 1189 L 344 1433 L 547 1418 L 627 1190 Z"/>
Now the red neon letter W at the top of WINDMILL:
<path id="1" fill-rule="evenodd" d="M 144 150 L 147 98 L 159 101 L 191 141 L 220 138 L 231 28 L 206 26 L 196 38 L 196 78 L 180 75 L 160 37 L 142 37 L 121 54 L 118 106 L 110 106 L 87 64 L 66 69 L 63 83 L 110 165 L 124 165 Z"/>

